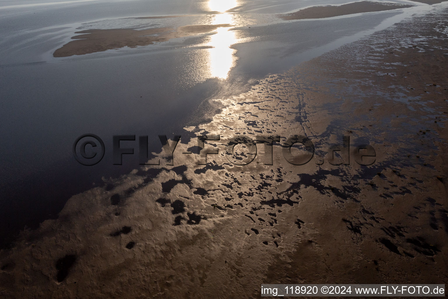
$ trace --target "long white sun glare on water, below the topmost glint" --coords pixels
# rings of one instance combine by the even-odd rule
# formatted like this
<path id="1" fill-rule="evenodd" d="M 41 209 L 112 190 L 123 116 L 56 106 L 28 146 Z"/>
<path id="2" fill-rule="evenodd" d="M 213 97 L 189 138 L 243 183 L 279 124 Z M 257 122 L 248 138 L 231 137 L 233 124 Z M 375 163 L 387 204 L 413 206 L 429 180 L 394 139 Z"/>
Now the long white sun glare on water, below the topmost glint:
<path id="1" fill-rule="evenodd" d="M 221 13 L 214 16 L 212 25 L 233 23 L 233 14 Z M 216 34 L 210 36 L 207 44 L 212 48 L 208 49 L 210 56 L 210 73 L 212 78 L 225 80 L 228 78 L 230 69 L 235 65 L 237 58 L 234 56 L 235 49 L 230 48 L 237 42 L 233 27 L 218 27 Z"/>

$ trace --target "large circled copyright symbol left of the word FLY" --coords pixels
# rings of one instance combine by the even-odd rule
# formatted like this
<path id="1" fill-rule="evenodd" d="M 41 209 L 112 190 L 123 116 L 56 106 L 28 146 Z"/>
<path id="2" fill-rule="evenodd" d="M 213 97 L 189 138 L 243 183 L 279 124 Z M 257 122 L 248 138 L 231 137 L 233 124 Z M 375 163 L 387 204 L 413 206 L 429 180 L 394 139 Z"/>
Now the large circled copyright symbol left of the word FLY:
<path id="1" fill-rule="evenodd" d="M 92 166 L 104 156 L 104 143 L 95 134 L 84 134 L 73 143 L 73 156 L 79 164 Z"/>

